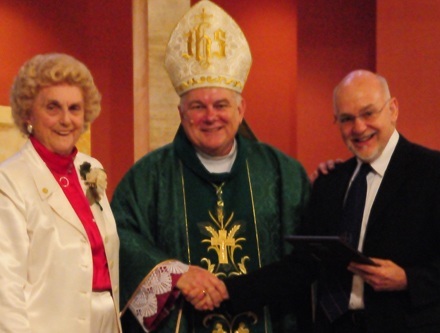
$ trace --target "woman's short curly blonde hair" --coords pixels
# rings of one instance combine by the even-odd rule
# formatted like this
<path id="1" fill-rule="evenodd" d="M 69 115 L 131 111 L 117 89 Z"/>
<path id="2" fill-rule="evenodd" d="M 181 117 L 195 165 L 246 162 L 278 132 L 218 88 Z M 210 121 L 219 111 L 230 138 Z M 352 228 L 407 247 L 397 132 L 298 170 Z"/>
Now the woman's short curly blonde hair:
<path id="1" fill-rule="evenodd" d="M 67 54 L 40 54 L 19 70 L 11 88 L 12 117 L 17 127 L 28 135 L 27 125 L 34 100 L 41 89 L 69 84 L 81 89 L 84 98 L 84 130 L 101 112 L 101 94 L 89 69 Z"/>

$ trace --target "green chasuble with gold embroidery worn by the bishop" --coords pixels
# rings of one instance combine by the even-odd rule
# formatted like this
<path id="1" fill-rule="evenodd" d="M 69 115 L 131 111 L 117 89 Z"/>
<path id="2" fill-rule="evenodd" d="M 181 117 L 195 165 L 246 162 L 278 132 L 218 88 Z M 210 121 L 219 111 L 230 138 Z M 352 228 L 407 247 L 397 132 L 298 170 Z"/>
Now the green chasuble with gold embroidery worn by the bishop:
<path id="1" fill-rule="evenodd" d="M 208 172 L 180 128 L 173 143 L 139 160 L 118 185 L 112 209 L 121 242 L 124 308 L 161 262 L 176 259 L 219 278 L 247 274 L 291 248 L 309 195 L 303 167 L 277 149 L 237 135 L 230 173 Z M 295 332 L 290 309 L 199 312 L 179 299 L 155 332 Z M 125 333 L 143 332 L 130 310 Z M 178 328 L 176 330 L 176 327 Z"/>

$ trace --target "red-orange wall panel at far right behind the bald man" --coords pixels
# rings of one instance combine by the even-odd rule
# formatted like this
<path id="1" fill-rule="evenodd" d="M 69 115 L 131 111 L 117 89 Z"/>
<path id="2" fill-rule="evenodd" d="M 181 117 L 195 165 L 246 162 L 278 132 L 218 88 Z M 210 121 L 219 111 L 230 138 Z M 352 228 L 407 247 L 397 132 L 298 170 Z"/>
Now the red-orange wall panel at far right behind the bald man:
<path id="1" fill-rule="evenodd" d="M 398 130 L 440 149 L 440 1 L 381 0 L 377 6 L 377 69 L 399 101 Z"/>

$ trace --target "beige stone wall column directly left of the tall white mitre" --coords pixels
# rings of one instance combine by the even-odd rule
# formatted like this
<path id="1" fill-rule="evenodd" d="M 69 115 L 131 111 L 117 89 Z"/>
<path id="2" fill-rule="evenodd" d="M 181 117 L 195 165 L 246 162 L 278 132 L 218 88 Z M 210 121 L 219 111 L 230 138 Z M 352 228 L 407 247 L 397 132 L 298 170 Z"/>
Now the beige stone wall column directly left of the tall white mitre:
<path id="1" fill-rule="evenodd" d="M 189 0 L 133 1 L 134 157 L 173 140 L 178 96 L 164 68 L 168 38 Z"/>

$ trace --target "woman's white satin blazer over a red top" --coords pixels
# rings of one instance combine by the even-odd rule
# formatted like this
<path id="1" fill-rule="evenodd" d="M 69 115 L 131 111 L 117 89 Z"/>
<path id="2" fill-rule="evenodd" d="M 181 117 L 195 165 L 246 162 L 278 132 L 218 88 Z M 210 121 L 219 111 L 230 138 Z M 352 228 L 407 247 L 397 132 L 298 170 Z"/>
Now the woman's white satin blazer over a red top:
<path id="1" fill-rule="evenodd" d="M 78 153 L 75 169 L 84 161 Z M 86 185 L 80 179 L 83 190 Z M 107 197 L 91 206 L 119 312 L 119 239 Z M 85 229 L 30 141 L 0 164 L 0 332 L 90 332 L 93 263 Z M 119 316 L 117 316 L 119 318 Z"/>

